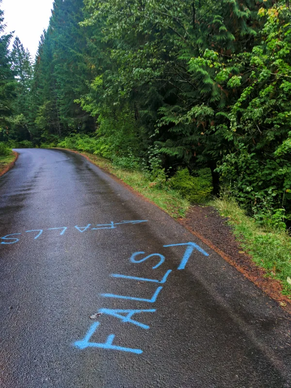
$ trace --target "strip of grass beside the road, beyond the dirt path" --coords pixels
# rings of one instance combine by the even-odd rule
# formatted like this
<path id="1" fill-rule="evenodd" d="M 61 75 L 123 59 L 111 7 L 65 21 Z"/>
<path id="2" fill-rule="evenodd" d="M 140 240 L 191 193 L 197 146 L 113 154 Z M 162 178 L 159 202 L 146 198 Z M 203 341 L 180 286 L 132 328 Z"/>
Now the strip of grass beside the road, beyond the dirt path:
<path id="1" fill-rule="evenodd" d="M 185 216 L 190 203 L 186 199 L 182 198 L 177 191 L 165 185 L 160 187 L 157 184 L 153 184 L 146 174 L 138 171 L 123 170 L 115 167 L 112 162 L 100 156 L 92 155 L 88 152 L 82 153 L 101 168 L 106 169 L 117 178 L 123 180 L 135 191 L 143 194 L 146 198 L 150 199 L 172 217 L 177 218 Z"/>

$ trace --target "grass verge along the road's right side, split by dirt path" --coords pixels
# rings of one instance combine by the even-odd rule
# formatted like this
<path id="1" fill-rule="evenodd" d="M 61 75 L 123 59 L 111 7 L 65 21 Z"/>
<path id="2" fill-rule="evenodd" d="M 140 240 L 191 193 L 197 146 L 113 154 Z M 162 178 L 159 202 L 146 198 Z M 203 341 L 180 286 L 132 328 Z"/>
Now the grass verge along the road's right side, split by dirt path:
<path id="1" fill-rule="evenodd" d="M 79 152 L 105 171 L 121 179 L 136 192 L 143 194 L 162 210 L 174 218 L 184 217 L 190 202 L 178 191 L 166 185 L 157 185 L 150 178 L 137 171 L 128 171 L 116 167 L 113 163 L 89 152 Z M 233 233 L 253 261 L 266 270 L 266 275 L 279 280 L 283 286 L 282 293 L 291 299 L 291 238 L 287 232 L 262 229 L 254 219 L 248 217 L 234 199 L 223 197 L 211 204 L 223 217 L 228 217 Z"/>

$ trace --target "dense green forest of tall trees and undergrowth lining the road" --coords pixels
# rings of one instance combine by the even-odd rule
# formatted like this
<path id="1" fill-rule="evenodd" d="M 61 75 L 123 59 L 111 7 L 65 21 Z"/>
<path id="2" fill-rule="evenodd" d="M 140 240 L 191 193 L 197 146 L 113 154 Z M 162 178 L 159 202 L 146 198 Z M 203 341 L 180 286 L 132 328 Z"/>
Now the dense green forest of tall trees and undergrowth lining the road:
<path id="1" fill-rule="evenodd" d="M 289 0 L 55 0 L 34 60 L 4 16 L 0 154 L 87 151 L 288 225 Z"/>

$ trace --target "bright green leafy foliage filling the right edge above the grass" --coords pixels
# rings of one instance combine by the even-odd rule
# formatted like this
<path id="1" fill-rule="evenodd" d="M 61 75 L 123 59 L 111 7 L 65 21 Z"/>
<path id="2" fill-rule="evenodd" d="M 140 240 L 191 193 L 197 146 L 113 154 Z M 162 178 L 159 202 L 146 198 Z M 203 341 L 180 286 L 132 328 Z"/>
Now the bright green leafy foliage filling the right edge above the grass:
<path id="1" fill-rule="evenodd" d="M 291 217 L 291 25 L 286 23 L 291 11 L 280 2 L 269 9 L 262 7 L 259 15 L 265 18 L 263 38 L 251 52 L 233 56 L 225 65 L 216 64 L 225 93 L 229 96 L 231 87 L 238 94 L 229 110 L 220 112 L 229 125 L 217 128 L 229 147 L 217 171 L 257 220 L 268 219 L 275 226 L 279 218 L 282 226 Z M 230 85 L 221 74 L 223 67 L 226 74 L 234 69 L 242 74 L 240 84 Z"/>

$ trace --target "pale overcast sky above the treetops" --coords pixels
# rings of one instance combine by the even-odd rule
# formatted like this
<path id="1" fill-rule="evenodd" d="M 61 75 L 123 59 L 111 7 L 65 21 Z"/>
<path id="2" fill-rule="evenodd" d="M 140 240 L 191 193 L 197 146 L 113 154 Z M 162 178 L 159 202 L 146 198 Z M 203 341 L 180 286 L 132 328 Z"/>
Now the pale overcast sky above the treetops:
<path id="1" fill-rule="evenodd" d="M 15 31 L 32 58 L 36 54 L 40 35 L 49 26 L 53 0 L 2 0 L 5 32 Z"/>

